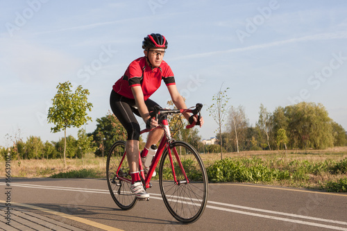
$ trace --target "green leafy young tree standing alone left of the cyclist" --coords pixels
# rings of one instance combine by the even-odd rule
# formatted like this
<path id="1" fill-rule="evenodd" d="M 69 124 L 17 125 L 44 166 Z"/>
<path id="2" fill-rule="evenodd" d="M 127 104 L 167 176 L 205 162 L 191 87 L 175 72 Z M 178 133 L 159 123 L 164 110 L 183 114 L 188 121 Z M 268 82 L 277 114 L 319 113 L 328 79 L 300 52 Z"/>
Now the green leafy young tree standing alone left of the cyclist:
<path id="1" fill-rule="evenodd" d="M 48 122 L 56 126 L 51 128 L 51 132 L 64 130 L 64 166 L 66 168 L 66 130 L 67 128 L 79 128 L 92 118 L 87 116 L 87 110 L 92 110 L 92 103 L 87 101 L 89 91 L 79 85 L 75 92 L 72 92 L 72 85 L 69 81 L 59 83 L 58 92 L 52 99 L 53 106 L 49 108 Z"/>

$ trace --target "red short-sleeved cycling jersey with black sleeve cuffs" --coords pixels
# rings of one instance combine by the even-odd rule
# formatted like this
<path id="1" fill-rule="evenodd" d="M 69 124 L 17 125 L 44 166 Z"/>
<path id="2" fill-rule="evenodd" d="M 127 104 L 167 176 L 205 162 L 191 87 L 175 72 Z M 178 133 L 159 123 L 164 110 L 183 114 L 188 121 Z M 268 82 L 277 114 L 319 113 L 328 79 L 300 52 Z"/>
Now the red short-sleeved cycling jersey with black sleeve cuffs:
<path id="1" fill-rule="evenodd" d="M 124 76 L 121 76 L 112 88 L 121 96 L 134 99 L 131 87 L 141 86 L 146 101 L 160 87 L 162 80 L 166 85 L 176 84 L 174 73 L 167 62 L 163 60 L 160 67 L 151 69 L 146 64 L 146 57 L 142 57 L 130 63 Z"/>

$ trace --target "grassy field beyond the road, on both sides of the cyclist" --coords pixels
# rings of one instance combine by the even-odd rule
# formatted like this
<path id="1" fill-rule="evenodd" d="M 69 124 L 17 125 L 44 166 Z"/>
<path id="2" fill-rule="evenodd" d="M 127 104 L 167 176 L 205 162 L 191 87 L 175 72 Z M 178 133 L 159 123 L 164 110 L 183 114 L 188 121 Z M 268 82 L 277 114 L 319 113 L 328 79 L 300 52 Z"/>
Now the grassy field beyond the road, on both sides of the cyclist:
<path id="1" fill-rule="evenodd" d="M 246 151 L 201 153 L 210 182 L 251 182 L 347 192 L 347 147 L 323 151 Z M 0 177 L 5 162 L 0 162 Z M 105 178 L 106 157 L 85 155 L 82 159 L 12 160 L 11 176 L 24 178 Z"/>

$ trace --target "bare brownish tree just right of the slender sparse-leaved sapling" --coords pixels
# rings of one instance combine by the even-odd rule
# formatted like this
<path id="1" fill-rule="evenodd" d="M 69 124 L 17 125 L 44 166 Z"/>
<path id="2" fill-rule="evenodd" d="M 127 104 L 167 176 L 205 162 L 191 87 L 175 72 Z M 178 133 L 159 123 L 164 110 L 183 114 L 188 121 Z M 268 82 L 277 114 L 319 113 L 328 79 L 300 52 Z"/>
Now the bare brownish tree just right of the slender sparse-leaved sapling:
<path id="1" fill-rule="evenodd" d="M 248 119 L 246 119 L 246 114 L 244 113 L 242 105 L 239 105 L 237 108 L 230 108 L 229 126 L 232 137 L 235 137 L 236 151 L 239 153 L 239 139 L 244 139 L 248 127 Z"/>

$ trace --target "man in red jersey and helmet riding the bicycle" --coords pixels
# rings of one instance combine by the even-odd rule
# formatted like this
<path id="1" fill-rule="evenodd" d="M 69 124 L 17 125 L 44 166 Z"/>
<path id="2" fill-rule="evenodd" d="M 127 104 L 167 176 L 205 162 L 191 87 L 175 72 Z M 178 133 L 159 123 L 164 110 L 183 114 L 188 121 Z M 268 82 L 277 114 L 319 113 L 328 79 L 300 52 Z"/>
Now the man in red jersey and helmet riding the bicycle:
<path id="1" fill-rule="evenodd" d="M 162 60 L 165 49 L 167 49 L 167 40 L 163 35 L 152 33 L 144 37 L 142 42 L 144 57 L 137 58 L 130 63 L 124 76 L 119 78 L 112 87 L 110 96 L 110 106 L 113 114 L 119 119 L 121 124 L 128 132 L 126 141 L 126 153 L 131 175 L 131 191 L 141 200 L 149 198 L 149 194 L 144 187 L 139 176 L 139 123 L 134 114 L 142 117 L 146 123 L 146 128 L 155 128 L 158 121 L 152 119 L 149 112 L 153 110 L 155 103 L 151 96 L 164 80 L 167 85 L 171 100 L 178 109 L 185 109 L 185 101 L 178 93 L 174 74 L 167 62 Z M 183 114 L 185 119 L 192 123 L 196 118 L 189 113 Z M 197 125 L 203 125 L 203 118 L 196 121 Z M 142 161 L 146 157 L 152 144 L 157 144 L 162 137 L 163 130 L 157 129 L 149 132 L 144 151 L 141 153 Z M 145 169 L 146 172 L 148 169 Z"/>

